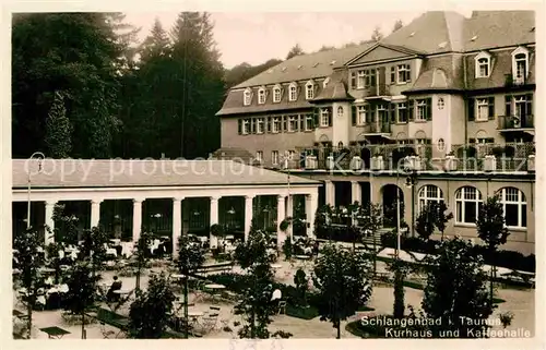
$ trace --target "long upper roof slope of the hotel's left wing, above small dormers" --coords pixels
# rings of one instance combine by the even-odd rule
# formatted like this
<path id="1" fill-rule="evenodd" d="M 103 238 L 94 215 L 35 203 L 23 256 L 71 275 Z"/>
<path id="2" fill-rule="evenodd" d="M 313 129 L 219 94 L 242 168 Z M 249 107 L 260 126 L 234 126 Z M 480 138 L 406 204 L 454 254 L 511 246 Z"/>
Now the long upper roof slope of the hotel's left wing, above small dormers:
<path id="1" fill-rule="evenodd" d="M 335 67 L 345 64 L 345 62 L 373 44 L 370 41 L 343 49 L 296 56 L 240 83 L 234 88 L 325 77 L 332 74 Z"/>

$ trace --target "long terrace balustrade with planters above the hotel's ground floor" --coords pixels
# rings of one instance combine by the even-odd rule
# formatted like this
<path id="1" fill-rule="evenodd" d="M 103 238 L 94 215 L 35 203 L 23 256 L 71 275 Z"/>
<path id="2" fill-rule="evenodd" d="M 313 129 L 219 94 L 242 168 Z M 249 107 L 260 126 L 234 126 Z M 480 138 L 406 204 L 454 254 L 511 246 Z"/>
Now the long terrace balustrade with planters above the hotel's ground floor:
<path id="1" fill-rule="evenodd" d="M 289 162 L 290 169 L 395 171 L 404 167 L 407 156 L 418 158 L 420 171 L 530 171 L 534 143 L 452 145 L 450 155 L 432 155 L 437 145 L 352 145 L 348 147 L 306 147 L 298 149 L 299 159 Z M 378 159 L 380 157 L 380 166 Z M 495 164 L 495 165 L 492 165 Z"/>

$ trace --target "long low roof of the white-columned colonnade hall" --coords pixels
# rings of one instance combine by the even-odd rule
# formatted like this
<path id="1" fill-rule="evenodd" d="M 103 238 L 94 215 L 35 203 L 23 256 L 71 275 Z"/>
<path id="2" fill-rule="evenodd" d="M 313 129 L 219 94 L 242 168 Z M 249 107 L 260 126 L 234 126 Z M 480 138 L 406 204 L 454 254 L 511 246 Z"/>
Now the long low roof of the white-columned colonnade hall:
<path id="1" fill-rule="evenodd" d="M 12 160 L 13 189 L 26 189 L 27 169 L 37 188 L 127 188 L 199 185 L 283 185 L 284 173 L 230 160 L 46 159 L 43 171 L 27 159 Z M 290 176 L 292 184 L 319 182 Z"/>

